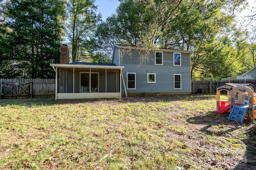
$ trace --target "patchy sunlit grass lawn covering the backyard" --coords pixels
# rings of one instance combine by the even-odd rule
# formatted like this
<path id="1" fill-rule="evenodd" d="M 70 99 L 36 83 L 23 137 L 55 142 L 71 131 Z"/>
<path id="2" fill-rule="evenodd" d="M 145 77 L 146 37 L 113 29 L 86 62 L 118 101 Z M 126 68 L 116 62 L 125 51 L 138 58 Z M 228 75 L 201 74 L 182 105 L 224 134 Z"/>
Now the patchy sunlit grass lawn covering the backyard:
<path id="1" fill-rule="evenodd" d="M 256 153 L 243 141 L 254 123 L 215 110 L 215 95 L 0 100 L 0 169 L 252 166 L 241 161 Z"/>

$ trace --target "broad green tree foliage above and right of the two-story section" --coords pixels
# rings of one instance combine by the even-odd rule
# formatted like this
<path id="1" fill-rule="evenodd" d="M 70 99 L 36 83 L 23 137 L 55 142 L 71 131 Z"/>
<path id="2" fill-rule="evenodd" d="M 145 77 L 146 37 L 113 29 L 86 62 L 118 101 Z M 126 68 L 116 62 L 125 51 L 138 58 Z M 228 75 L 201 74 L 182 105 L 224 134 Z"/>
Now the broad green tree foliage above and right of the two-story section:
<path id="1" fill-rule="evenodd" d="M 242 74 L 252 66 L 244 32 L 235 27 L 239 0 L 120 0 L 116 14 L 102 22 L 98 42 L 193 51 L 191 77 L 216 79 Z M 144 55 L 146 61 L 148 55 Z"/>

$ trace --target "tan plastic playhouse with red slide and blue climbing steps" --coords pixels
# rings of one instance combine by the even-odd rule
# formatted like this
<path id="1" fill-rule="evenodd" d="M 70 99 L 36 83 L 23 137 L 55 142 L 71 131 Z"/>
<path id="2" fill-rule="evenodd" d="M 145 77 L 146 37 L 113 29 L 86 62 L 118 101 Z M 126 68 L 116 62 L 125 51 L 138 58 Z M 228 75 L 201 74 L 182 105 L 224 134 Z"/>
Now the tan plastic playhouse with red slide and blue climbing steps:
<path id="1" fill-rule="evenodd" d="M 228 101 L 220 101 L 220 92 L 226 91 Z M 256 88 L 253 84 L 225 83 L 216 88 L 217 113 L 230 111 L 228 120 L 244 122 L 256 119 Z"/>

